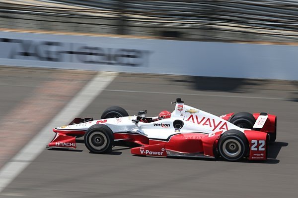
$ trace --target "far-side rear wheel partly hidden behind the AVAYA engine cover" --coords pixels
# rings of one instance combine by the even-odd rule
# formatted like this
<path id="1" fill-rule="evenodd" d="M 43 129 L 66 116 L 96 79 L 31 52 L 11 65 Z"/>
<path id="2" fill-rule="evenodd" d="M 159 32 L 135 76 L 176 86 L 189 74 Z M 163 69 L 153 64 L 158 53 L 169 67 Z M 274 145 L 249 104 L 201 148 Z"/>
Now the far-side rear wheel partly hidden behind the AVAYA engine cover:
<path id="1" fill-rule="evenodd" d="M 251 113 L 248 113 L 248 112 L 236 113 L 230 119 L 230 123 L 244 129 L 252 129 L 255 122 L 256 122 L 256 119 L 253 117 Z"/>

